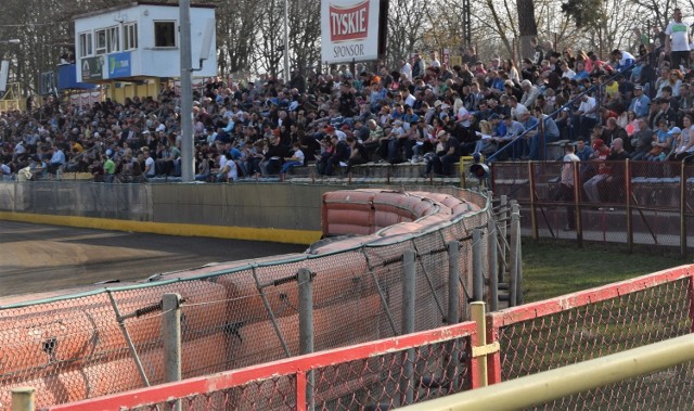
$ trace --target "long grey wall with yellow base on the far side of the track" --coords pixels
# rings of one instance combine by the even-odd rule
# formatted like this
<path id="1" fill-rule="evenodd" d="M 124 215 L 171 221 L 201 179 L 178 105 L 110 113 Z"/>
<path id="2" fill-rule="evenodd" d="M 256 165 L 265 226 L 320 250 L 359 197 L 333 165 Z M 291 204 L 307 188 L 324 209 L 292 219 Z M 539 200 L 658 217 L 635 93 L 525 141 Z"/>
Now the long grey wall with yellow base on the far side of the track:
<path id="1" fill-rule="evenodd" d="M 334 187 L 0 182 L 0 219 L 310 244 Z"/>

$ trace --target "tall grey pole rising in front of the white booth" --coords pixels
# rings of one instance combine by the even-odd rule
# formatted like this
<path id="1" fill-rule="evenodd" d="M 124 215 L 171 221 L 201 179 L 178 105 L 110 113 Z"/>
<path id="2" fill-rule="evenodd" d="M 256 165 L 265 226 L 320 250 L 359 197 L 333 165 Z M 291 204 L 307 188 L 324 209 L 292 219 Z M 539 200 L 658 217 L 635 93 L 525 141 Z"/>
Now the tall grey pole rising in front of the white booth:
<path id="1" fill-rule="evenodd" d="M 181 179 L 193 182 L 195 146 L 193 144 L 193 81 L 191 52 L 191 1 L 179 0 L 181 51 Z"/>

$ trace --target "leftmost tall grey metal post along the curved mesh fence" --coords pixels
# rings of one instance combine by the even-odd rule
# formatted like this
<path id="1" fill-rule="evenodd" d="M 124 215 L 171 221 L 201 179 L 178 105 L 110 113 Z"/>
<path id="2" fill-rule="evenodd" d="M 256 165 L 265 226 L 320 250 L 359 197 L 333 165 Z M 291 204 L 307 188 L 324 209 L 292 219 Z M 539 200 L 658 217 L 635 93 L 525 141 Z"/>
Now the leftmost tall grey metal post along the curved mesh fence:
<path id="1" fill-rule="evenodd" d="M 181 381 L 181 296 L 167 293 L 162 297 L 162 333 L 164 343 L 164 377 L 167 383 Z M 171 408 L 181 410 L 177 400 Z"/>

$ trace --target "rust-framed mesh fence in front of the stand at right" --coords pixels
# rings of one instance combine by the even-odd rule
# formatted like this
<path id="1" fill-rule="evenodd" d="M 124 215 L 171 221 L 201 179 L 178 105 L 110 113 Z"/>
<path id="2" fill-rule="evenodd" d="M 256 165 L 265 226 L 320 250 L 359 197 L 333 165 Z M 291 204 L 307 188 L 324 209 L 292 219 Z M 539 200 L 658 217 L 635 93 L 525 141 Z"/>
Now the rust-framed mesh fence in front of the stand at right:
<path id="1" fill-rule="evenodd" d="M 562 170 L 575 176 L 562 183 Z M 694 246 L 694 166 L 671 162 L 494 163 L 494 195 L 522 206 L 536 239 L 611 242 L 687 253 Z"/>

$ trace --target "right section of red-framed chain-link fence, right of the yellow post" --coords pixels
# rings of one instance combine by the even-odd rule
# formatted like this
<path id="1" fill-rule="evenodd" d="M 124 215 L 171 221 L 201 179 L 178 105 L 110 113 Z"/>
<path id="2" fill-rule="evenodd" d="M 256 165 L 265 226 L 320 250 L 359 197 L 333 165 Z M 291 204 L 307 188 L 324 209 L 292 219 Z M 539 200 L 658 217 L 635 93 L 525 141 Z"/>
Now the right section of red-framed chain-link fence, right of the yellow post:
<path id="1" fill-rule="evenodd" d="M 691 307 L 692 277 L 685 268 L 491 313 L 501 344 L 500 380 L 690 334 Z M 691 368 L 678 365 L 537 409 L 681 409 L 694 397 L 691 374 Z M 664 408 L 668 403 L 678 406 Z"/>

